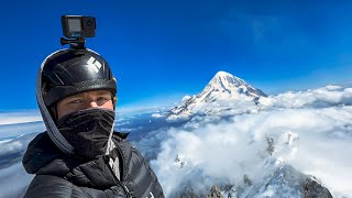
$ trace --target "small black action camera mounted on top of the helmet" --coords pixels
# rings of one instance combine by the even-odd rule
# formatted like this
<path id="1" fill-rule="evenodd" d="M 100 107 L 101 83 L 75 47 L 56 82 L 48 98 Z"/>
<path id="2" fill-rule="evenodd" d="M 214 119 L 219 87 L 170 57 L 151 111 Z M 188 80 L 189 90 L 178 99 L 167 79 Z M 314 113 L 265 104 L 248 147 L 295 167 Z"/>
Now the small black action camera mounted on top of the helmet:
<path id="1" fill-rule="evenodd" d="M 94 37 L 96 18 L 85 15 L 62 15 L 63 33 L 68 38 Z"/>

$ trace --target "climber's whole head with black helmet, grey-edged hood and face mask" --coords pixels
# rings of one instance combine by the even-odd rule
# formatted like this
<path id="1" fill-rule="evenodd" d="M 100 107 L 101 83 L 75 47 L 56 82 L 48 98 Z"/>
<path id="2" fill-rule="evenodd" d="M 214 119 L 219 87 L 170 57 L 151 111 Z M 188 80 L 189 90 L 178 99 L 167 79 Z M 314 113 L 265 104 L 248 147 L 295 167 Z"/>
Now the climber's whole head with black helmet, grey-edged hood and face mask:
<path id="1" fill-rule="evenodd" d="M 63 50 L 42 64 L 36 97 L 47 133 L 66 154 L 90 160 L 111 143 L 117 81 L 90 50 Z"/>

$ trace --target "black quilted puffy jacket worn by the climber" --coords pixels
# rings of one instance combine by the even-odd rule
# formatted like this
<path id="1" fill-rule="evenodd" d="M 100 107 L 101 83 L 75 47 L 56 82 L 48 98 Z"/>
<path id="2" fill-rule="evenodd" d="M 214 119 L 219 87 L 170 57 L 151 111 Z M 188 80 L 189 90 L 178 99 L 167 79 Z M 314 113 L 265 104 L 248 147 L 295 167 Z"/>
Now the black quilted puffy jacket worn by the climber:
<path id="1" fill-rule="evenodd" d="M 109 156 L 80 164 L 63 154 L 46 132 L 38 134 L 22 161 L 29 174 L 36 174 L 24 197 L 163 198 L 162 187 L 140 152 L 121 133 L 113 133 L 112 140 L 116 148 Z M 109 165 L 117 157 L 121 179 Z"/>

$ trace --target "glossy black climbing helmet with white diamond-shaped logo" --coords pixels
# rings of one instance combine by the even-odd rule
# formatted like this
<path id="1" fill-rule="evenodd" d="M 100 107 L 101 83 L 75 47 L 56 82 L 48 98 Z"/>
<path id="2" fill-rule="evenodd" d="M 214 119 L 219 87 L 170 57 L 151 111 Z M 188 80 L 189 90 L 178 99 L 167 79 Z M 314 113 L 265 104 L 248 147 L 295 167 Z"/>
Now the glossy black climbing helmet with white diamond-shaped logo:
<path id="1" fill-rule="evenodd" d="M 110 90 L 116 101 L 117 81 L 108 63 L 90 50 L 63 50 L 42 66 L 42 91 L 46 107 L 90 90 Z"/>

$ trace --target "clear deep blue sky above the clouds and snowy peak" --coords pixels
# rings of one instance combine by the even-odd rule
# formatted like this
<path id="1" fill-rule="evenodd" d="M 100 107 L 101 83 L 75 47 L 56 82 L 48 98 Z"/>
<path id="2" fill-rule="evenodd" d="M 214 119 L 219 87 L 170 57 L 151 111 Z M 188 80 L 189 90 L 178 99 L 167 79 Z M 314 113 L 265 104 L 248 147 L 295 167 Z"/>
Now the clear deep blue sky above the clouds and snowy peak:
<path id="1" fill-rule="evenodd" d="M 0 110 L 36 109 L 37 69 L 63 48 L 63 14 L 96 16 L 97 35 L 87 47 L 112 67 L 120 107 L 177 101 L 218 70 L 266 94 L 351 81 L 352 2 L 309 2 L 7 1 L 0 8 Z"/>

